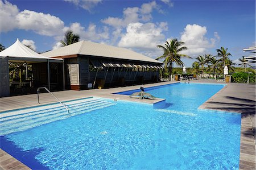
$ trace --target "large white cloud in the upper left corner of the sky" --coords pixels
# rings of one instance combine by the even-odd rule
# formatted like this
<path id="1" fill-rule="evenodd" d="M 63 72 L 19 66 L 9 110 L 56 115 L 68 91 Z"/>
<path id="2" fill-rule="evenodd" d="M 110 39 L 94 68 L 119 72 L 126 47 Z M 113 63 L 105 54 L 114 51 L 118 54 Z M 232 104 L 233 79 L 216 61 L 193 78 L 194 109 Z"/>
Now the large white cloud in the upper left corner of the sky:
<path id="1" fill-rule="evenodd" d="M 0 1 L 0 32 L 11 31 L 15 28 L 32 30 L 40 35 L 55 36 L 61 34 L 64 22 L 56 16 L 35 11 L 19 12 L 16 5 Z"/>

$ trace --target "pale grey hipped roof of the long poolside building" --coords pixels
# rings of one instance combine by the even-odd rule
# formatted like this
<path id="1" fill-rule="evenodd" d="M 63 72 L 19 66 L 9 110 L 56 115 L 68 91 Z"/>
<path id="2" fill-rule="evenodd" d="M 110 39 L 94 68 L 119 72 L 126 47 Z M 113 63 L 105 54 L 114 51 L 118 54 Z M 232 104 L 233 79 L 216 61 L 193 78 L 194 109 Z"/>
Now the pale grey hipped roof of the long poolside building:
<path id="1" fill-rule="evenodd" d="M 47 57 L 61 57 L 69 55 L 89 55 L 89 56 L 101 56 L 110 57 L 114 59 L 126 59 L 126 60 L 137 60 L 146 61 L 151 63 L 163 64 L 162 62 L 144 56 L 141 53 L 131 51 L 126 48 L 113 47 L 106 44 L 99 44 L 93 42 L 81 41 L 59 49 L 53 49 L 42 53 L 41 55 Z"/>

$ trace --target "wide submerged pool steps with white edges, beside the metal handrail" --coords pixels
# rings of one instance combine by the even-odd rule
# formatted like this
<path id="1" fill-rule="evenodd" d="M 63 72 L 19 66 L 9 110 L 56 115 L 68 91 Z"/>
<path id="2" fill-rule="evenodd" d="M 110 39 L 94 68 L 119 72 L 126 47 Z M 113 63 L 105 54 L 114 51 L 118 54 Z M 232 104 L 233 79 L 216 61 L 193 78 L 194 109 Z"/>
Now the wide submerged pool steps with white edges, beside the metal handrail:
<path id="1" fill-rule="evenodd" d="M 41 126 L 46 123 L 66 119 L 74 115 L 88 113 L 93 110 L 115 105 L 115 103 L 105 101 L 103 99 L 67 102 L 65 104 L 69 107 L 69 113 L 63 106 L 53 106 L 48 107 L 48 109 L 43 107 L 41 108 L 42 110 L 40 110 L 40 107 L 36 107 L 34 112 L 30 109 L 28 113 L 24 113 L 24 110 L 22 110 L 22 114 L 16 113 L 11 114 L 11 116 L 1 117 L 0 135 L 27 130 L 28 128 Z"/>

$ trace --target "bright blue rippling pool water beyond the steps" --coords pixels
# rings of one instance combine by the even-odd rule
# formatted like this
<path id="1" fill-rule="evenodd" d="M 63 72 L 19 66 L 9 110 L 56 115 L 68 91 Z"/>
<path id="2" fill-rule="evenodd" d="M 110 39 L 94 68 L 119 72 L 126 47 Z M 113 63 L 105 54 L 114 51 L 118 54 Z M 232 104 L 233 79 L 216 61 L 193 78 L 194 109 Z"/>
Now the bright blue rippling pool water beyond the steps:
<path id="1" fill-rule="evenodd" d="M 1 136 L 1 147 L 34 169 L 238 169 L 241 115 L 197 111 L 221 88 L 148 89 L 164 109 L 101 99 L 108 107 Z"/>

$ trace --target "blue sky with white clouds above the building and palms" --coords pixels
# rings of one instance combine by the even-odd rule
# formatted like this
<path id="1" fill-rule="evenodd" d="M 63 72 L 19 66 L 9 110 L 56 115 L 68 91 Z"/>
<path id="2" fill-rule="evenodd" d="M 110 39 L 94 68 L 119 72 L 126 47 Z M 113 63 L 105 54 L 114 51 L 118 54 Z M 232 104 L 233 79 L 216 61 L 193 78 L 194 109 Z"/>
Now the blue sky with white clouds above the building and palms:
<path id="1" fill-rule="evenodd" d="M 0 0 L 0 43 L 17 38 L 36 52 L 60 48 L 64 32 L 80 40 L 128 48 L 156 59 L 156 45 L 177 38 L 188 47 L 185 67 L 198 55 L 228 48 L 234 63 L 256 46 L 254 0 Z"/>

